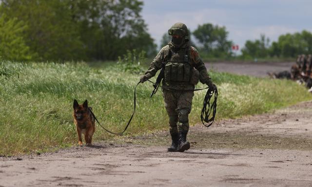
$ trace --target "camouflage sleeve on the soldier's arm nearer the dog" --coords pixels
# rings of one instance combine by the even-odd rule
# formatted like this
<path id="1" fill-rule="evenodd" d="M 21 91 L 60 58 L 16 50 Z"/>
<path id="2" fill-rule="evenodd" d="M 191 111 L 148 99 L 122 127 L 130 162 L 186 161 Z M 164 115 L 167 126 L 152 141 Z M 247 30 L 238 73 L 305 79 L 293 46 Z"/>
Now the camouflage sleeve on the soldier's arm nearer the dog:
<path id="1" fill-rule="evenodd" d="M 169 46 L 168 46 L 169 47 Z M 167 46 L 163 47 L 152 61 L 150 67 L 145 72 L 148 78 L 156 75 L 156 72 L 161 69 L 164 62 L 164 56 L 166 55 Z"/>

